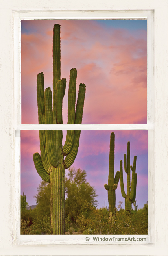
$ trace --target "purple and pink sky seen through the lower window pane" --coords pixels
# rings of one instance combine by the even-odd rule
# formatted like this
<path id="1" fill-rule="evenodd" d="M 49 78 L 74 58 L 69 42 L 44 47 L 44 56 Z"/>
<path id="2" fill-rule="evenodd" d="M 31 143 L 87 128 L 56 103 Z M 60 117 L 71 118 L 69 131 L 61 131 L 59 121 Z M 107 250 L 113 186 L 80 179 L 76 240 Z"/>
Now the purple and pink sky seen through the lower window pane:
<path id="1" fill-rule="evenodd" d="M 115 133 L 115 173 L 119 171 L 120 160 L 124 163 L 127 153 L 127 141 L 130 141 L 131 165 L 133 157 L 137 156 L 137 204 L 142 208 L 148 200 L 148 132 L 147 131 L 114 131 Z M 63 132 L 64 140 L 66 131 Z M 102 207 L 104 200 L 107 204 L 107 191 L 104 184 L 108 183 L 109 174 L 109 143 L 111 131 L 81 131 L 78 154 L 73 163 L 76 169 L 87 172 L 87 181 L 97 191 L 98 207 Z M 40 176 L 37 173 L 33 154 L 39 152 L 39 131 L 21 131 L 21 194 L 23 191 L 29 205 L 36 204 L 33 196 L 37 193 Z M 67 170 L 66 170 L 67 173 Z M 126 173 L 124 171 L 124 188 L 126 191 Z M 115 175 L 115 174 L 114 174 Z M 116 204 L 124 203 L 120 191 L 120 182 L 116 190 Z"/>

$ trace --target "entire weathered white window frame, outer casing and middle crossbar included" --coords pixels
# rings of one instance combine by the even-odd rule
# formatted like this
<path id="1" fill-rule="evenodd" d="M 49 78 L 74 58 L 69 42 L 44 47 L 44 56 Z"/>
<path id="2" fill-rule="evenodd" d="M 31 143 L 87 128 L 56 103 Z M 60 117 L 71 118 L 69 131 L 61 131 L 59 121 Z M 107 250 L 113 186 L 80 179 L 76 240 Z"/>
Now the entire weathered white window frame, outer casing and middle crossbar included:
<path id="1" fill-rule="evenodd" d="M 21 3 L 20 0 L 18 2 Z M 37 2 L 35 0 L 34 2 Z M 119 1 L 118 1 L 119 2 Z M 25 12 L 14 11 L 11 12 L 12 7 L 8 7 L 9 11 L 5 8 L 0 10 L 2 14 L 1 18 L 6 19 L 5 28 L 10 28 L 10 32 L 14 31 L 14 41 L 5 45 L 5 40 L 2 39 L 1 46 L 5 46 L 9 51 L 6 53 L 8 63 L 11 58 L 14 60 L 14 74 L 13 66 L 9 65 L 9 70 L 6 73 L 1 73 L 2 82 L 5 84 L 10 83 L 7 88 L 3 88 L 2 95 L 2 107 L 4 113 L 1 112 L 2 119 L 5 121 L 6 128 L 2 130 L 1 139 L 2 143 L 7 143 L 3 146 L 4 151 L 1 154 L 1 168 L 2 171 L 2 188 L 0 188 L 2 203 L 4 208 L 1 211 L 0 221 L 0 253 L 3 255 L 74 255 L 74 249 L 78 247 L 75 254 L 83 255 L 167 255 L 168 243 L 167 243 L 167 228 L 168 222 L 166 221 L 167 213 L 167 183 L 168 174 L 168 141 L 167 141 L 167 127 L 168 127 L 168 35 L 164 32 L 162 24 L 168 22 L 168 7 L 166 1 L 161 0 L 157 4 L 149 4 L 147 1 L 142 1 L 137 5 L 132 0 L 127 0 L 127 6 L 124 1 L 119 3 L 115 2 L 113 6 L 114 11 L 50 11 L 46 12 L 29 12 L 28 6 L 24 6 Z M 42 1 L 44 4 L 44 1 Z M 61 4 L 60 4 L 61 6 Z M 75 6 L 75 3 L 74 3 Z M 96 5 L 95 5 L 96 6 Z M 100 3 L 98 6 L 101 6 Z M 110 1 L 107 1 L 107 6 L 110 8 Z M 85 5 L 81 7 L 81 10 L 85 10 Z M 84 9 L 83 9 L 84 8 Z M 55 8 L 56 9 L 56 8 Z M 70 9 L 70 5 L 69 5 Z M 93 8 L 95 9 L 95 7 Z M 123 10 L 125 11 L 118 11 Z M 129 11 L 126 11 L 129 9 Z M 138 11 L 138 10 L 148 11 Z M 132 11 L 131 11 L 132 10 Z M 137 11 L 135 11 L 137 10 Z M 151 11 L 152 10 L 152 11 Z M 4 11 L 4 13 L 2 12 Z M 7 17 L 5 17 L 5 14 Z M 47 244 L 54 244 L 52 240 L 45 241 L 34 237 L 34 241 L 28 241 L 20 237 L 20 134 L 19 130 L 39 130 L 39 125 L 21 125 L 20 124 L 20 20 L 21 19 L 63 19 L 73 17 L 77 19 L 95 19 L 97 15 L 98 19 L 103 17 L 109 18 L 147 18 L 150 22 L 148 27 L 148 115 L 147 124 L 129 124 L 129 125 L 78 125 L 78 128 L 74 126 L 73 129 L 78 130 L 148 130 L 148 205 L 149 205 L 149 236 L 150 243 L 148 244 L 126 244 L 125 245 L 55 245 L 56 247 L 48 247 Z M 106 16 L 107 15 L 107 16 Z M 138 16 L 139 15 L 139 16 Z M 12 17 L 14 23 L 11 24 Z M 148 23 L 148 24 L 149 24 Z M 0 29 L 5 34 L 5 39 L 12 39 L 8 31 L 2 28 Z M 154 41 L 155 37 L 155 41 Z M 151 39 L 151 41 L 150 41 Z M 14 50 L 13 50 L 14 49 Z M 155 52 L 154 52 L 155 50 Z M 2 53 L 2 61 L 7 67 L 7 61 L 5 55 Z M 155 72 L 154 72 L 155 71 Z M 5 77 L 5 75 L 8 75 Z M 13 83 L 14 77 L 14 83 Z M 10 81 L 11 79 L 11 81 Z M 9 91 L 11 89 L 11 92 Z M 5 96 L 9 94 L 10 104 L 6 101 Z M 3 98 L 4 97 L 4 98 Z M 7 109 L 5 106 L 9 106 Z M 14 113 L 13 113 L 13 110 Z M 13 113 L 13 114 L 12 114 Z M 6 115 L 9 115 L 9 120 L 6 120 Z M 43 125 L 40 127 L 44 130 Z M 50 125 L 47 127 L 50 128 Z M 45 130 L 47 129 L 45 125 Z M 72 125 L 54 126 L 53 129 L 72 130 Z M 15 131 L 15 137 L 14 137 Z M 10 136 L 9 136 L 10 135 Z M 11 143 L 11 145 L 9 145 Z M 11 147 L 12 146 L 12 147 Z M 7 162 L 8 159 L 8 162 Z M 5 171 L 7 170 L 10 171 Z M 5 192 L 4 192 L 5 191 Z M 2 193 L 3 192 L 3 193 Z M 164 205 L 163 205 L 164 204 Z M 160 213 L 162 209 L 162 213 Z M 7 223 L 9 225 L 7 226 Z M 27 236 L 25 236 L 27 237 Z M 54 238 L 54 236 L 53 236 Z M 31 239 L 31 238 L 30 238 Z M 30 240 L 29 239 L 29 240 Z M 36 239 L 36 241 L 35 241 Z M 25 241 L 24 241 L 25 240 Z M 71 243 L 71 241 L 70 241 Z M 43 244 L 43 245 L 42 245 Z M 38 245 L 38 246 L 35 246 Z M 4 247 L 4 249 L 2 249 Z M 39 252 L 37 252 L 41 249 Z"/>

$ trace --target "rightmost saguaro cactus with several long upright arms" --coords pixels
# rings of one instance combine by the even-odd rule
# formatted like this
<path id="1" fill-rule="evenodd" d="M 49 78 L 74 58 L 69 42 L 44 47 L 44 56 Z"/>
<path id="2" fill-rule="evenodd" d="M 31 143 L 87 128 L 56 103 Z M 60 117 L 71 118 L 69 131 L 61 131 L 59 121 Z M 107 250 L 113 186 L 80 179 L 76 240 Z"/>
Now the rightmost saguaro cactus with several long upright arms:
<path id="1" fill-rule="evenodd" d="M 136 189 L 137 189 L 137 173 L 136 171 L 137 156 L 134 156 L 133 167 L 130 166 L 130 142 L 127 143 L 127 156 L 124 154 L 124 170 L 127 174 L 127 194 L 124 191 L 123 172 L 122 172 L 122 160 L 120 161 L 120 184 L 121 193 L 125 198 L 125 210 L 127 215 L 131 214 L 131 205 L 135 202 Z M 132 170 L 132 180 L 131 180 Z"/>

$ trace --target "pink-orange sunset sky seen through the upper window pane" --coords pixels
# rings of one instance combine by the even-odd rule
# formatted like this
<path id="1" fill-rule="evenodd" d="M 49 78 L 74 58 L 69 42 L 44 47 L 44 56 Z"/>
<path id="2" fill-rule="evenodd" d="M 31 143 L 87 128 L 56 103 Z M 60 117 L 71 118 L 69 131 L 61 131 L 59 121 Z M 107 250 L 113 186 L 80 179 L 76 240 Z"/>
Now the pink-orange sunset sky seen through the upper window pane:
<path id="1" fill-rule="evenodd" d="M 63 124 L 72 68 L 76 100 L 79 84 L 86 85 L 83 124 L 146 124 L 146 20 L 22 20 L 22 124 L 38 124 L 38 73 L 52 90 L 54 24 L 61 25 L 61 78 L 67 80 Z"/>

